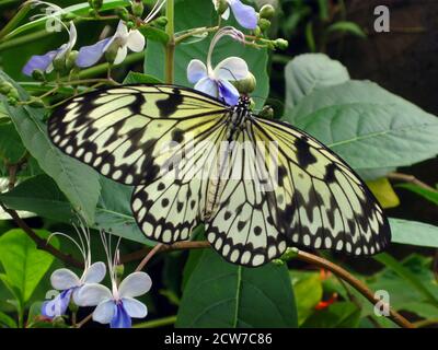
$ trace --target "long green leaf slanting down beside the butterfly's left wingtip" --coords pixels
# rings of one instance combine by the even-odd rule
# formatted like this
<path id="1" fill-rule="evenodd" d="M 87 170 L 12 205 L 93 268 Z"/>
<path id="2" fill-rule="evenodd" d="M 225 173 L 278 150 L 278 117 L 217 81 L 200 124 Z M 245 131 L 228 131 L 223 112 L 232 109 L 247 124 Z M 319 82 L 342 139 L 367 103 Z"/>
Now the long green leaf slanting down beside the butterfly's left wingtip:
<path id="1" fill-rule="evenodd" d="M 0 77 L 14 83 L 3 72 L 0 72 Z M 15 83 L 14 86 L 19 89 L 22 98 L 26 100 L 24 90 Z M 92 223 L 101 189 L 97 173 L 62 154 L 51 143 L 46 126 L 41 121 L 41 109 L 11 106 L 4 97 L 2 101 L 28 152 L 38 161 L 42 170 L 57 183 L 74 209 L 82 213 L 88 223 Z"/>

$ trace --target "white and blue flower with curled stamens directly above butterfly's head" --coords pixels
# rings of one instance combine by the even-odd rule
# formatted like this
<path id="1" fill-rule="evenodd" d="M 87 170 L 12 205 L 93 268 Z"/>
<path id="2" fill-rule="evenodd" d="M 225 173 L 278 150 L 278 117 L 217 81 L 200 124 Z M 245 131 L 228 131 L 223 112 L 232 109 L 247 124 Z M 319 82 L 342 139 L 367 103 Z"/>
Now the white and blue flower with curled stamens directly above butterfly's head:
<path id="1" fill-rule="evenodd" d="M 198 59 L 193 59 L 187 66 L 187 79 L 195 84 L 195 89 L 210 96 L 222 100 L 233 106 L 239 102 L 239 91 L 230 81 L 244 79 L 249 75 L 246 62 L 240 57 L 228 57 L 220 61 L 215 68 L 211 65 L 212 50 L 222 36 L 244 43 L 241 32 L 232 27 L 220 30 L 211 40 L 207 55 L 207 65 Z"/>

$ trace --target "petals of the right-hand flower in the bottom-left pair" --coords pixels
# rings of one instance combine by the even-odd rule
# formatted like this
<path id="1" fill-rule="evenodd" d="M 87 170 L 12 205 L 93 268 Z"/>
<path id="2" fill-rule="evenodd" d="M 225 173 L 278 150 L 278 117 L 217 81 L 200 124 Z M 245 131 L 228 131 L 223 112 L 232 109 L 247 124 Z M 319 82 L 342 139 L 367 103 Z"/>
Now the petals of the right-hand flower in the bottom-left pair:
<path id="1" fill-rule="evenodd" d="M 130 328 L 131 318 L 148 315 L 147 306 L 135 298 L 147 293 L 152 281 L 146 272 L 132 272 L 117 287 L 113 277 L 112 291 L 97 283 L 83 287 L 79 293 L 79 305 L 96 306 L 93 312 L 95 322 L 110 324 L 111 328 Z"/>

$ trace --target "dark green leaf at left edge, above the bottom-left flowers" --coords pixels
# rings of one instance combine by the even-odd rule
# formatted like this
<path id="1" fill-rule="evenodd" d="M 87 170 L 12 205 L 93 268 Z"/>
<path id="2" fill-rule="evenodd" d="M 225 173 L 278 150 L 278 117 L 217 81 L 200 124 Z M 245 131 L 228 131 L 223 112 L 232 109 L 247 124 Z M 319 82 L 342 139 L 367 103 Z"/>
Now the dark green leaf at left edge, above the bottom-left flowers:
<path id="1" fill-rule="evenodd" d="M 12 190 L 0 194 L 8 208 L 26 210 L 44 218 L 69 222 L 71 206 L 56 183 L 47 175 L 37 175 L 19 184 Z"/>

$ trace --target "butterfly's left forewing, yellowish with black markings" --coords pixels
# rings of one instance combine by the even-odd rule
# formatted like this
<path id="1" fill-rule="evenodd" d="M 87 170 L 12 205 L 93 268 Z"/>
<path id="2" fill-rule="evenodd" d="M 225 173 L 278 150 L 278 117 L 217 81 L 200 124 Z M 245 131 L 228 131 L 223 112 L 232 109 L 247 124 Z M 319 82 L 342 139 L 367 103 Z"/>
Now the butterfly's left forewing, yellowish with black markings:
<path id="1" fill-rule="evenodd" d="M 214 129 L 227 107 L 173 85 L 123 85 L 79 95 L 48 120 L 65 153 L 126 185 L 148 184 L 193 138 Z M 181 154 L 180 154 L 181 155 Z"/>

